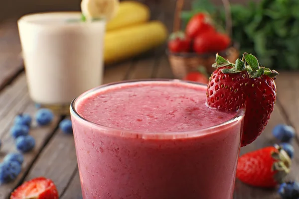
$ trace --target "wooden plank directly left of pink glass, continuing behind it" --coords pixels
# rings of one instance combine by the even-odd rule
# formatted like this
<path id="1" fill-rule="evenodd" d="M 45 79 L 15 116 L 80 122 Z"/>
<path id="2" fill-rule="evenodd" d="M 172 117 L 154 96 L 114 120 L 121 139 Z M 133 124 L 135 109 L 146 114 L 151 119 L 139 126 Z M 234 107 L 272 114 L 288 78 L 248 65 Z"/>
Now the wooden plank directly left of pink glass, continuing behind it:
<path id="1" fill-rule="evenodd" d="M 120 65 L 105 69 L 104 83 L 121 81 L 126 79 L 132 62 L 128 61 Z M 79 183 L 73 180 L 77 174 L 77 159 L 75 152 L 74 139 L 72 135 L 63 134 L 59 129 L 53 138 L 40 153 L 34 162 L 25 180 L 44 176 L 50 178 L 57 186 L 58 193 L 62 198 L 76 199 L 74 195 L 79 193 L 81 196 L 80 185 L 69 192 L 68 187 L 74 187 Z M 80 183 L 79 183 L 80 184 Z M 80 197 L 78 196 L 78 197 Z"/>

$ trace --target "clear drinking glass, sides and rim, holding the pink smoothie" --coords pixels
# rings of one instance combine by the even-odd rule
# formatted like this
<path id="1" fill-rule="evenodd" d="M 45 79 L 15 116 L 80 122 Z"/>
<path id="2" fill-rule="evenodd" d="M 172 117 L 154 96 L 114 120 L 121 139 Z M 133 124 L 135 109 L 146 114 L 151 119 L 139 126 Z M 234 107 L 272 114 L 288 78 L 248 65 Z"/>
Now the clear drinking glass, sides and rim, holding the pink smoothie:
<path id="1" fill-rule="evenodd" d="M 169 133 L 110 128 L 77 112 L 85 97 L 128 83 L 139 81 L 103 85 L 71 103 L 83 199 L 232 199 L 244 109 L 216 126 Z"/>

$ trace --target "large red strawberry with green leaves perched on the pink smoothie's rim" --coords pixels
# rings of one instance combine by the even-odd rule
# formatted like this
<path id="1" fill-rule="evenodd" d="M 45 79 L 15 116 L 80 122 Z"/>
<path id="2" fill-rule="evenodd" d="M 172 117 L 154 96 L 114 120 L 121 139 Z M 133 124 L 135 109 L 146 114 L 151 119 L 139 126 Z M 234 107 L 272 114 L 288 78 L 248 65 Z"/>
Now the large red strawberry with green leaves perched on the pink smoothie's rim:
<path id="1" fill-rule="evenodd" d="M 207 89 L 207 104 L 225 111 L 246 108 L 241 146 L 253 142 L 264 130 L 276 101 L 276 71 L 259 66 L 258 60 L 244 53 L 232 64 L 216 55 L 217 69 Z"/>

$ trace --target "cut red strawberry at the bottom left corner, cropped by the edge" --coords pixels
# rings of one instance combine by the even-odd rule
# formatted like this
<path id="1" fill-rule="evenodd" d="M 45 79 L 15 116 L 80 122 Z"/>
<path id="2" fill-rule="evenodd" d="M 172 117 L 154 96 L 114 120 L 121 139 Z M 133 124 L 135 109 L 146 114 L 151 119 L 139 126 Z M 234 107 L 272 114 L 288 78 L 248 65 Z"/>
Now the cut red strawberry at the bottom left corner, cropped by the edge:
<path id="1" fill-rule="evenodd" d="M 10 199 L 58 199 L 58 192 L 50 179 L 39 177 L 19 186 Z"/>

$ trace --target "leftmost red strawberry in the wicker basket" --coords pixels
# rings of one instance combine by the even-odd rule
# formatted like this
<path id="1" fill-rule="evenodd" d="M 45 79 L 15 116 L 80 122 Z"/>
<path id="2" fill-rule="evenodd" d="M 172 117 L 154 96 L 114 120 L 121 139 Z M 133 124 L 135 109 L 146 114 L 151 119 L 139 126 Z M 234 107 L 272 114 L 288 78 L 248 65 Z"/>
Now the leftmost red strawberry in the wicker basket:
<path id="1" fill-rule="evenodd" d="M 170 52 L 189 52 L 191 48 L 191 39 L 183 32 L 173 32 L 169 36 L 168 49 Z"/>

